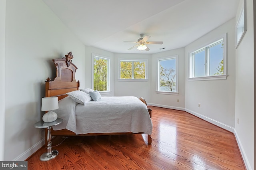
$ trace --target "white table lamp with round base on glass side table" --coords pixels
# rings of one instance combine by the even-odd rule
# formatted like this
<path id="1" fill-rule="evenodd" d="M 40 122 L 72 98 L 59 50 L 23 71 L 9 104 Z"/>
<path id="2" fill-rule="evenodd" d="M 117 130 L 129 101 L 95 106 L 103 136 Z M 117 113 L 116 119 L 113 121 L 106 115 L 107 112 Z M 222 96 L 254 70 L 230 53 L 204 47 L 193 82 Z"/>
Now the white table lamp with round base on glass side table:
<path id="1" fill-rule="evenodd" d="M 58 97 L 43 97 L 42 98 L 42 111 L 48 111 L 43 116 L 43 121 L 53 122 L 57 119 L 57 113 L 53 112 L 53 110 L 59 109 Z"/>

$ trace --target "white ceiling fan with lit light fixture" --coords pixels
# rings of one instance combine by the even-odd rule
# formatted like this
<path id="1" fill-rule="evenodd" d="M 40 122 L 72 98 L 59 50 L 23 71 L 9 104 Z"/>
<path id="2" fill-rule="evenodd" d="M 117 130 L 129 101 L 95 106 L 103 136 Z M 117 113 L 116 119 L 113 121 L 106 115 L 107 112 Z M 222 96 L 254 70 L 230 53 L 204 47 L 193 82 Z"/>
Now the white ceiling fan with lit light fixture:
<path id="1" fill-rule="evenodd" d="M 137 43 L 133 47 L 129 48 L 128 50 L 133 49 L 134 47 L 137 47 L 138 50 L 142 51 L 149 51 L 150 49 L 146 44 L 163 44 L 163 42 L 147 42 L 150 36 L 145 36 L 144 34 L 140 34 L 140 37 L 137 42 L 131 42 L 131 43 Z"/>

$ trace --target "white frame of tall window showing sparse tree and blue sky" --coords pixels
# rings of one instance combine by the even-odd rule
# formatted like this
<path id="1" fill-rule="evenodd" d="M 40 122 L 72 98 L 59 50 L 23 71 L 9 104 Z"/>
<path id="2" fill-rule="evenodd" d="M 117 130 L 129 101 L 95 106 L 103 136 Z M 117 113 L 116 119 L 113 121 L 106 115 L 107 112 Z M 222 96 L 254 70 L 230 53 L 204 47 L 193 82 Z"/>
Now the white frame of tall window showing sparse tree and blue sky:
<path id="1" fill-rule="evenodd" d="M 176 91 L 160 91 L 160 61 L 168 60 L 168 59 L 176 59 Z M 157 63 L 157 81 L 156 81 L 156 93 L 157 94 L 164 94 L 164 95 L 178 95 L 178 55 L 171 55 L 166 57 L 160 57 L 156 59 Z"/>

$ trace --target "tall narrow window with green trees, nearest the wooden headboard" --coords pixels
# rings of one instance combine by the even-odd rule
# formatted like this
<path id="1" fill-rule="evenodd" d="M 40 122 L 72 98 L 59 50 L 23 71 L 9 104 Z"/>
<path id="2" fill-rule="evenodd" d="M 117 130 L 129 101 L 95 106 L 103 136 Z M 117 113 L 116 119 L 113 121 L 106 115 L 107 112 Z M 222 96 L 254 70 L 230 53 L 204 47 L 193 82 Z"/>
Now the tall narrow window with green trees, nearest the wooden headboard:
<path id="1" fill-rule="evenodd" d="M 93 54 L 93 89 L 97 91 L 109 91 L 110 59 Z"/>

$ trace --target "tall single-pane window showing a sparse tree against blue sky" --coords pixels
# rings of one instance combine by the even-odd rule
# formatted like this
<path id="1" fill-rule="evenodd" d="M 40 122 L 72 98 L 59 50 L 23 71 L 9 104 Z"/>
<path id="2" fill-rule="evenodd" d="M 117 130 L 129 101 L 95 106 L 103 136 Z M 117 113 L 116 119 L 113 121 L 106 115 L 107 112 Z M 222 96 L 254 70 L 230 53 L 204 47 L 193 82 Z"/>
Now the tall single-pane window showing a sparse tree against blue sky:
<path id="1" fill-rule="evenodd" d="M 177 60 L 178 55 L 158 58 L 157 93 L 178 94 Z"/>

